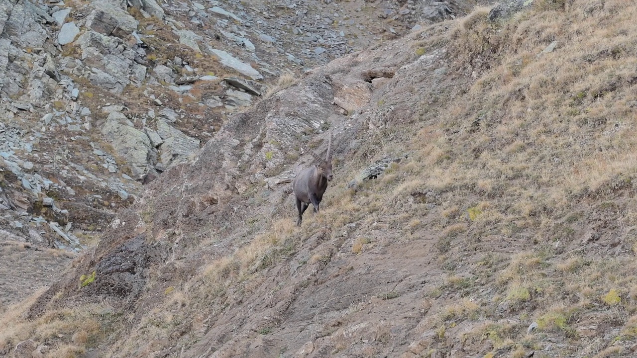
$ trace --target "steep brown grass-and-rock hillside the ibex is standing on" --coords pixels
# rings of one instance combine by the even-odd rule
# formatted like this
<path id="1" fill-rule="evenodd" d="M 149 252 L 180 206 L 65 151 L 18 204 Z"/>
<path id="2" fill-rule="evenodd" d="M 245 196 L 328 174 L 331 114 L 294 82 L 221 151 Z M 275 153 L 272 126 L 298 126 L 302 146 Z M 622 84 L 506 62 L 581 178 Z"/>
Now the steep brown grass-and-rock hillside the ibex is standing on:
<path id="1" fill-rule="evenodd" d="M 0 352 L 634 356 L 636 16 L 508 1 L 280 82 L 5 310 Z"/>

